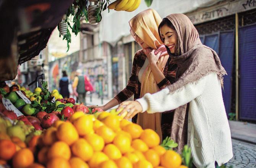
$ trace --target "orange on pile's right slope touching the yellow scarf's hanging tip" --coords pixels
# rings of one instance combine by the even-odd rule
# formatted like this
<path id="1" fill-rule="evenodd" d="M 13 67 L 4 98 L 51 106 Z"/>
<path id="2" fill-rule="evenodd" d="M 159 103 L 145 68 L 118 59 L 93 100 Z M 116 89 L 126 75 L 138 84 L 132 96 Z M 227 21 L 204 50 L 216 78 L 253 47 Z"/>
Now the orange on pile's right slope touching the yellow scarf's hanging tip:
<path id="1" fill-rule="evenodd" d="M 159 135 L 152 129 L 144 129 L 141 133 L 140 139 L 144 141 L 149 148 L 155 147 L 160 143 Z"/>

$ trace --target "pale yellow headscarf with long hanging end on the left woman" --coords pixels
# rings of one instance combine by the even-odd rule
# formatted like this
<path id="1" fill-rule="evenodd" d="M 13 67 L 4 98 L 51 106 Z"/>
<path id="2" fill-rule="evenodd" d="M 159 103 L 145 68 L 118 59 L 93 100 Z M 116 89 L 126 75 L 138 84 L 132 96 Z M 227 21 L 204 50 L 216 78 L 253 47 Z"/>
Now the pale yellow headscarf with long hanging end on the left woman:
<path id="1" fill-rule="evenodd" d="M 131 35 L 136 39 L 135 34 L 143 40 L 150 48 L 157 49 L 163 44 L 158 34 L 158 26 L 162 21 L 159 14 L 153 9 L 147 9 L 134 16 L 129 24 L 131 26 Z M 142 47 L 142 46 L 141 46 Z M 146 49 L 146 48 L 143 48 Z M 157 67 L 160 71 L 164 71 L 169 55 L 164 55 L 157 61 Z M 141 79 L 141 93 L 143 97 L 146 93 L 156 93 L 160 89 L 157 86 L 156 80 L 149 66 L 145 69 Z M 139 113 L 137 124 L 141 125 L 143 129 L 153 129 L 157 132 L 162 140 L 161 130 L 161 113 L 148 114 L 146 112 Z"/>

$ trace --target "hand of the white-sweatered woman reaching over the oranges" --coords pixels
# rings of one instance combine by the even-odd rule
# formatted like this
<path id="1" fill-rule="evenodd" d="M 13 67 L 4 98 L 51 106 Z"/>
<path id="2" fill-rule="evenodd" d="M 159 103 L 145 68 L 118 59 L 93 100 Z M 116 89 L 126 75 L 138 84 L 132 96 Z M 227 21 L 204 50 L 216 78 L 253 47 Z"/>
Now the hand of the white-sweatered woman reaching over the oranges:
<path id="1" fill-rule="evenodd" d="M 128 111 L 127 115 L 125 116 L 126 120 L 131 119 L 136 114 L 143 112 L 141 104 L 137 101 L 125 101 L 119 105 L 117 111 L 119 111 L 121 108 L 123 108 L 123 110 L 119 113 L 119 115 L 122 115 Z"/>

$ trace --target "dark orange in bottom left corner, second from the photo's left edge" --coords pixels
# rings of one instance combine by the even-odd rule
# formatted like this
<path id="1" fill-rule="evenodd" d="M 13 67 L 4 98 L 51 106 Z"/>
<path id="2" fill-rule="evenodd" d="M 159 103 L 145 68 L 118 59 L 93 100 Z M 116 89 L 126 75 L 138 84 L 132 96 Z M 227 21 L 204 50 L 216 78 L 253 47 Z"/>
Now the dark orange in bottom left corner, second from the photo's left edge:
<path id="1" fill-rule="evenodd" d="M 28 148 L 16 152 L 13 156 L 12 163 L 14 168 L 26 168 L 34 162 L 34 155 Z"/>

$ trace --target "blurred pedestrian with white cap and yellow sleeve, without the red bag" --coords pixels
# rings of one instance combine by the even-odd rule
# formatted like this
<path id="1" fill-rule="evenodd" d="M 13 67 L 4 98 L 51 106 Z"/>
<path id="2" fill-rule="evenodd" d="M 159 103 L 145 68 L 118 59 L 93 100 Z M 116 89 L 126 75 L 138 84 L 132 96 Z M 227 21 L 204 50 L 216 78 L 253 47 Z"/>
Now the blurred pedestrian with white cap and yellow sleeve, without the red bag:
<path id="1" fill-rule="evenodd" d="M 73 91 L 80 103 L 86 105 L 86 90 L 84 84 L 84 76 L 81 69 L 76 70 L 76 77 L 73 82 Z"/>

